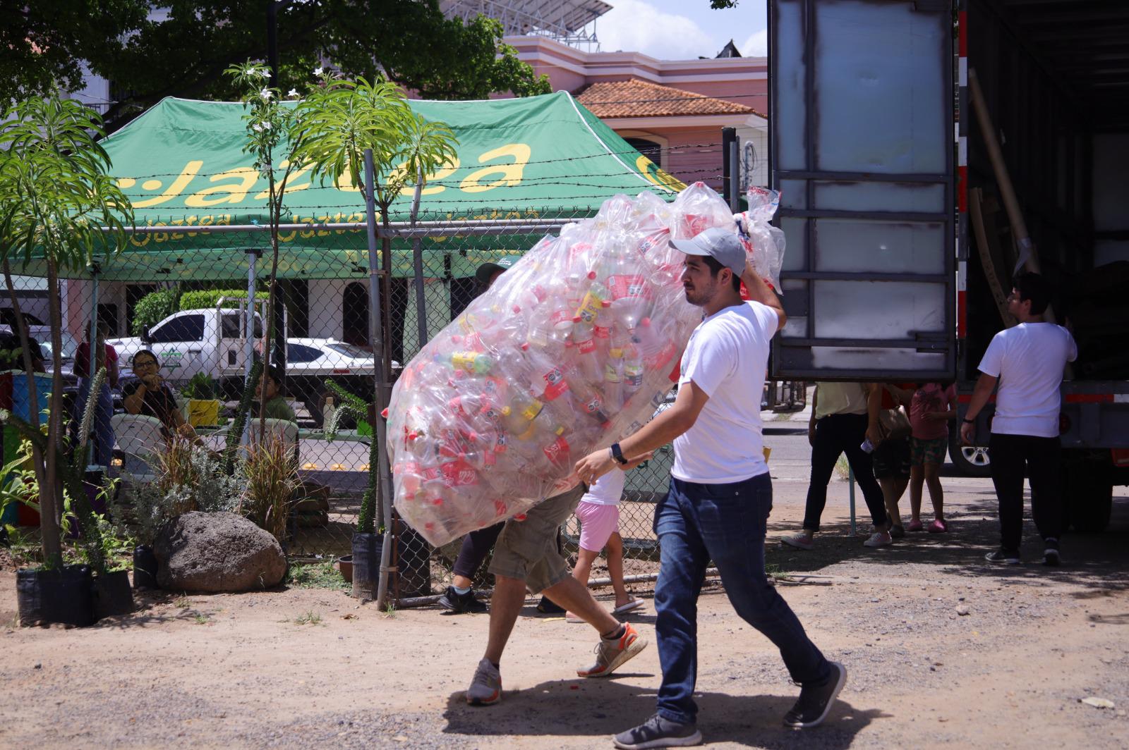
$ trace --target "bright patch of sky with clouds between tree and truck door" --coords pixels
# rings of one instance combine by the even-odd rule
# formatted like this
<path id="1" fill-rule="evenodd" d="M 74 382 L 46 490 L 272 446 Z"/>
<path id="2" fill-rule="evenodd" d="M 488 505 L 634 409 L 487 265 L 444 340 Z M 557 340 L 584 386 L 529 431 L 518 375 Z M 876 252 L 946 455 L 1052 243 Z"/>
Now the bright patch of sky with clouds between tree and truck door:
<path id="1" fill-rule="evenodd" d="M 746 58 L 767 53 L 767 0 L 711 10 L 709 0 L 605 0 L 596 21 L 602 52 L 642 52 L 658 60 L 714 58 L 729 39 Z"/>

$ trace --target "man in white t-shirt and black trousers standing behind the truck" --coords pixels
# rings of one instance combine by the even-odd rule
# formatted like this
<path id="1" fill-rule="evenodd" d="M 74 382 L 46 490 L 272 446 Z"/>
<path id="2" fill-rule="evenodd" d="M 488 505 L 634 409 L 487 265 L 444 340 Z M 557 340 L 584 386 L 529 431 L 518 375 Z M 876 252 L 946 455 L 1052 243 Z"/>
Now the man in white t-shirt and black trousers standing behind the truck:
<path id="1" fill-rule="evenodd" d="M 1031 514 L 1043 538 L 1043 565 L 1060 564 L 1062 476 L 1059 408 L 1062 370 L 1078 356 L 1074 337 L 1062 326 L 1047 323 L 1050 284 L 1035 273 L 1016 277 L 1007 310 L 1019 324 L 991 339 L 980 361 L 980 379 L 961 424 L 961 439 L 971 444 L 977 416 L 997 383 L 991 422 L 991 479 L 999 501 L 999 549 L 992 563 L 1019 564 L 1023 541 L 1023 475 L 1031 482 Z"/>

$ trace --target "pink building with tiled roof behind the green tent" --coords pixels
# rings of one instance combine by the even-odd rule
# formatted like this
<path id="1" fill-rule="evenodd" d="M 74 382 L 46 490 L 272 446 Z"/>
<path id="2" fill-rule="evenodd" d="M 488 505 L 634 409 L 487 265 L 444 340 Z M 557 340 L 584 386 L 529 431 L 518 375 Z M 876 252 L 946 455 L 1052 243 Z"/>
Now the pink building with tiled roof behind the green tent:
<path id="1" fill-rule="evenodd" d="M 721 185 L 721 129 L 741 139 L 745 185 L 768 180 L 768 60 L 655 60 L 638 52 L 584 52 L 542 36 L 506 43 L 553 90 L 570 91 L 612 130 L 684 183 Z"/>

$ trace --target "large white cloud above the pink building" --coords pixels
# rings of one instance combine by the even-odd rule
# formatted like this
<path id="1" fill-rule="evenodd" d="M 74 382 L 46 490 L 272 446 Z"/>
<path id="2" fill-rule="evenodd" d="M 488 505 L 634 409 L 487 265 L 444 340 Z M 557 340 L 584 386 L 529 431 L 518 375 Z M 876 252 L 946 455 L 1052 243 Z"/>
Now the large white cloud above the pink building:
<path id="1" fill-rule="evenodd" d="M 642 0 L 613 2 L 615 7 L 596 21 L 603 52 L 622 50 L 658 60 L 697 60 L 720 51 L 710 35 L 686 16 L 665 12 Z"/>

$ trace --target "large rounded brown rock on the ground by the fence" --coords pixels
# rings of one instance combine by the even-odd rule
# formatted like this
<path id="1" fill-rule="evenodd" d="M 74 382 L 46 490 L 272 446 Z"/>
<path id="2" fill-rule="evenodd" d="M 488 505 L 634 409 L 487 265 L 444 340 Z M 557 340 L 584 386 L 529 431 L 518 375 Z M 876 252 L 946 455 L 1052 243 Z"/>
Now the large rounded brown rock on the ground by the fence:
<path id="1" fill-rule="evenodd" d="M 253 591 L 286 575 L 278 540 L 235 513 L 185 513 L 160 530 L 154 554 L 157 583 L 175 591 Z"/>

